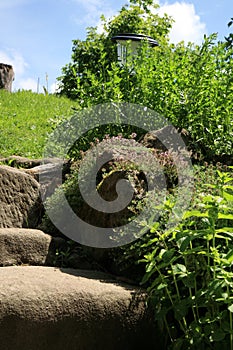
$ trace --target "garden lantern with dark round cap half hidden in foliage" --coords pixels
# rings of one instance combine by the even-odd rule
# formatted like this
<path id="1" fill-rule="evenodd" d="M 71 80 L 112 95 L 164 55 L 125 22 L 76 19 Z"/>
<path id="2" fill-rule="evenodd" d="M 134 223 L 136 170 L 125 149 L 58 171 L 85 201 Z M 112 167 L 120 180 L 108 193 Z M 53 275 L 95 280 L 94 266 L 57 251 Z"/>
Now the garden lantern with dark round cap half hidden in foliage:
<path id="1" fill-rule="evenodd" d="M 127 62 L 127 55 L 130 53 L 136 56 L 143 40 L 147 40 L 151 47 L 158 46 L 158 42 L 150 36 L 143 34 L 122 33 L 111 38 L 117 43 L 117 56 L 121 66 Z"/>

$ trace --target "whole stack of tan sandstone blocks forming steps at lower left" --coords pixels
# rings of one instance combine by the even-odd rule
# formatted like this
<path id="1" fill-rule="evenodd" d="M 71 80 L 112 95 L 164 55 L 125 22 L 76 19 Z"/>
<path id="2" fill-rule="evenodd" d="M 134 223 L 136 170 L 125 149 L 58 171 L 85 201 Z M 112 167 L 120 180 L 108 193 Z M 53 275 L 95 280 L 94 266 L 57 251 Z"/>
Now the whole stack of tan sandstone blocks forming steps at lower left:
<path id="1" fill-rule="evenodd" d="M 84 263 L 54 267 L 65 240 L 35 228 L 38 188 L 0 166 L 0 349 L 163 349 L 145 291 Z"/>

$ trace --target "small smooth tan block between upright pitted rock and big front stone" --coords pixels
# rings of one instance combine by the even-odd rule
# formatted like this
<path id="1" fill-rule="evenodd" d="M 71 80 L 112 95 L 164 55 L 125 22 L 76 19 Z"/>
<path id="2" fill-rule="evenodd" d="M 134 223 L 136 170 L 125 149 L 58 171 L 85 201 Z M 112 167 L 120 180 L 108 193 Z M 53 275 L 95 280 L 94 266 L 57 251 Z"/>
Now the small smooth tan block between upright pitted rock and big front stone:
<path id="1" fill-rule="evenodd" d="M 40 230 L 0 228 L 0 266 L 53 265 L 58 248 L 65 251 L 65 240 Z"/>

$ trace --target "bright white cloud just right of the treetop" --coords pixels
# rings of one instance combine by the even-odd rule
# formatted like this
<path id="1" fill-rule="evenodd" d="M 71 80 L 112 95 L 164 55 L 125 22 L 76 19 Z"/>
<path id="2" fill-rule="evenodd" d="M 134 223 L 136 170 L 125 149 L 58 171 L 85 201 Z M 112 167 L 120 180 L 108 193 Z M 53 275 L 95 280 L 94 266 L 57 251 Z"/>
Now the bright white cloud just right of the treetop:
<path id="1" fill-rule="evenodd" d="M 193 4 L 183 1 L 176 1 L 173 4 L 161 3 L 158 13 L 160 15 L 167 13 L 175 20 L 170 32 L 170 40 L 173 43 L 191 41 L 200 44 L 204 34 L 207 33 L 206 24 L 196 14 Z"/>

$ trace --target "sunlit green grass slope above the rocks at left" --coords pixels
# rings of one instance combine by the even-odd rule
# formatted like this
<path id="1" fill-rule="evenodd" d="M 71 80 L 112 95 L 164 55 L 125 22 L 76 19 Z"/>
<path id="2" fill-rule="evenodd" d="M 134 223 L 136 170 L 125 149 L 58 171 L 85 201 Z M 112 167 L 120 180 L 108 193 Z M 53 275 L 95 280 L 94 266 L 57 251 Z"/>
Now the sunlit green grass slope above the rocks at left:
<path id="1" fill-rule="evenodd" d="M 31 91 L 0 90 L 0 156 L 40 158 L 56 120 L 67 118 L 78 102 Z"/>

